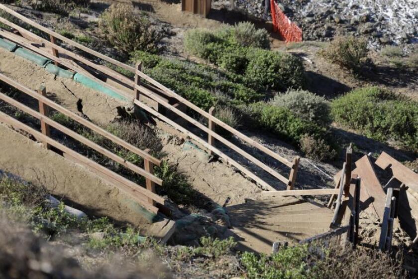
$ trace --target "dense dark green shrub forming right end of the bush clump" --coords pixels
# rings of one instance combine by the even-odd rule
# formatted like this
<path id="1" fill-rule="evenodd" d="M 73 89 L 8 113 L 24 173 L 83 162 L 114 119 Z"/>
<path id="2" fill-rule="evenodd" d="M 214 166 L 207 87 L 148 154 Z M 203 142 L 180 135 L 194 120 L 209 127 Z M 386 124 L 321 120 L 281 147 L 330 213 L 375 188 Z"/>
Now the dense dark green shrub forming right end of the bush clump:
<path id="1" fill-rule="evenodd" d="M 252 88 L 286 90 L 304 82 L 303 63 L 291 54 L 253 49 L 249 56 L 245 76 Z"/>

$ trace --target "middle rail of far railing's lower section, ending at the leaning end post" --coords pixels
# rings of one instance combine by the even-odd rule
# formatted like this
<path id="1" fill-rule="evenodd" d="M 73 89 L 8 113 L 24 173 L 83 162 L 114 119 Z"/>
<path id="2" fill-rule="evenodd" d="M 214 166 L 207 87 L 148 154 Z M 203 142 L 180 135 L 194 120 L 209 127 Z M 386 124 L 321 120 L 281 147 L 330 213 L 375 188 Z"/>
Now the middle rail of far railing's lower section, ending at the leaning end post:
<path id="1" fill-rule="evenodd" d="M 245 152 L 244 150 L 242 150 L 241 148 L 239 148 L 238 146 L 236 146 L 235 144 L 233 144 L 229 140 L 224 139 L 222 136 L 219 136 L 215 132 L 209 130 L 207 127 L 205 127 L 204 125 L 202 125 L 198 121 L 194 120 L 192 117 L 188 116 L 184 112 L 182 112 L 182 111 L 178 110 L 177 108 L 175 108 L 174 106 L 170 105 L 168 102 L 166 102 L 163 98 L 161 98 L 157 94 L 151 92 L 150 90 L 145 90 L 144 88 L 141 90 L 141 93 L 143 93 L 146 96 L 148 96 L 148 97 L 156 100 L 159 104 L 163 105 L 164 107 L 166 107 L 167 109 L 169 109 L 173 113 L 177 114 L 178 116 L 181 116 L 182 118 L 184 118 L 185 120 L 187 120 L 189 123 L 195 125 L 196 127 L 198 127 L 199 129 L 201 129 L 202 131 L 208 133 L 213 138 L 219 140 L 220 142 L 222 142 L 223 144 L 225 144 L 226 146 L 228 146 L 229 148 L 231 148 L 232 150 L 234 150 L 238 154 L 244 156 L 245 158 L 247 158 L 248 160 L 250 160 L 255 165 L 257 165 L 260 168 L 264 169 L 265 171 L 267 171 L 268 173 L 270 173 L 271 175 L 273 175 L 274 177 L 276 177 L 277 179 L 279 179 L 280 181 L 282 181 L 286 185 L 289 183 L 289 179 L 287 179 L 286 177 L 284 177 L 283 175 L 281 175 L 280 173 L 278 173 L 277 171 L 275 171 L 271 167 L 267 166 L 265 163 L 261 162 L 260 160 L 258 160 L 254 156 L 252 156 L 249 153 Z"/>

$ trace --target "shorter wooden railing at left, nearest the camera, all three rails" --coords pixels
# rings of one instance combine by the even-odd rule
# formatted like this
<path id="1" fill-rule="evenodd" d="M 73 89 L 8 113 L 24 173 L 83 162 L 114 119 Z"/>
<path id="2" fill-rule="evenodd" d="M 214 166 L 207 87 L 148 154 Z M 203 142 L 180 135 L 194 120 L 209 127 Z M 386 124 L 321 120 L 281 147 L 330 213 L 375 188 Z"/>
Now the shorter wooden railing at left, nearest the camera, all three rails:
<path id="1" fill-rule="evenodd" d="M 23 105 L 22 103 L 14 100 L 13 98 L 8 97 L 7 95 L 0 92 L 0 100 L 16 107 L 17 109 L 23 111 L 24 113 L 37 118 L 41 123 L 41 132 L 36 131 L 25 124 L 7 116 L 6 114 L 0 112 L 0 121 L 6 124 L 9 124 L 15 128 L 26 131 L 27 133 L 33 135 L 36 139 L 44 142 L 47 148 L 51 146 L 57 148 L 63 152 L 65 157 L 70 157 L 71 159 L 81 163 L 82 165 L 88 167 L 93 172 L 100 174 L 104 179 L 110 182 L 113 186 L 129 193 L 139 204 L 141 204 L 145 209 L 152 213 L 158 213 L 159 207 L 164 208 L 164 199 L 155 193 L 155 186 L 162 185 L 162 180 L 156 177 L 153 174 L 153 165 L 160 165 L 161 161 L 153 156 L 151 156 L 147 150 L 141 150 L 128 142 L 115 137 L 114 135 L 108 133 L 102 128 L 96 126 L 95 124 L 85 120 L 84 118 L 76 115 L 75 113 L 61 107 L 55 102 L 45 97 L 45 87 L 40 87 L 38 92 L 35 92 L 16 81 L 0 74 L 0 80 L 7 83 L 8 85 L 18 89 L 19 91 L 29 95 L 38 100 L 39 102 L 39 112 Z M 86 128 L 91 129 L 92 131 L 102 135 L 104 138 L 111 140 L 112 142 L 122 146 L 123 148 L 141 156 L 144 159 L 145 169 L 138 167 L 137 165 L 126 161 L 124 158 L 119 157 L 118 155 L 110 152 L 99 144 L 86 139 L 80 134 L 68 129 L 67 127 L 55 122 L 54 120 L 48 117 L 49 108 L 52 108 L 72 120 L 80 123 Z M 108 158 L 114 160 L 115 162 L 123 165 L 124 167 L 132 170 L 133 172 L 143 176 L 146 181 L 146 188 L 124 178 L 123 176 L 105 168 L 104 166 L 88 159 L 87 157 L 79 154 L 78 152 L 66 147 L 65 145 L 59 143 L 58 141 L 50 137 L 50 127 L 68 135 L 69 137 L 83 143 L 84 145 L 89 146 L 90 148 L 102 153 Z M 158 207 L 157 207 L 158 206 Z M 166 212 L 166 211 L 165 211 Z"/>

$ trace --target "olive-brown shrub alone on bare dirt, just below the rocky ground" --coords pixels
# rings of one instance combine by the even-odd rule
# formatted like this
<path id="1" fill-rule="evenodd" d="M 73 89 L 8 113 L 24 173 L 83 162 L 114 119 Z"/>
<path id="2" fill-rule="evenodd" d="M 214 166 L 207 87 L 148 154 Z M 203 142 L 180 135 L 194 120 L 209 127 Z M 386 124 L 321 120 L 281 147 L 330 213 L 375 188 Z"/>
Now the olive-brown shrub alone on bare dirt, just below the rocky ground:
<path id="1" fill-rule="evenodd" d="M 356 73 L 369 61 L 367 40 L 354 36 L 336 37 L 320 54 L 348 70 Z"/>

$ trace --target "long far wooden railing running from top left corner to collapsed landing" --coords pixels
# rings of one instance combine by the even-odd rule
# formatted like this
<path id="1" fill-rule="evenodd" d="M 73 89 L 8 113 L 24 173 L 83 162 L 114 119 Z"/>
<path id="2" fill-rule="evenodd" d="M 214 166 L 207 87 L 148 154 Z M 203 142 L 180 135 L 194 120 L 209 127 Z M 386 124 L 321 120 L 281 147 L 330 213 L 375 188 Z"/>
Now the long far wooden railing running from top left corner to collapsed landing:
<path id="1" fill-rule="evenodd" d="M 97 51 L 94 51 L 82 44 L 79 44 L 75 41 L 70 40 L 69 38 L 66 38 L 52 30 L 49 30 L 48 28 L 26 18 L 25 16 L 13 11 L 12 9 L 0 4 L 0 9 L 3 11 L 6 11 L 7 13 L 19 18 L 23 22 L 30 24 L 31 26 L 47 33 L 50 36 L 50 41 L 39 37 L 32 32 L 28 31 L 27 29 L 24 29 L 17 24 L 14 24 L 4 18 L 0 17 L 0 22 L 3 24 L 8 25 L 9 27 L 16 30 L 20 35 L 8 32 L 7 30 L 1 30 L 0 29 L 0 35 L 7 38 L 10 41 L 13 41 L 14 43 L 25 47 L 27 49 L 30 49 L 34 51 L 35 53 L 38 53 L 56 64 L 62 65 L 70 70 L 73 70 L 75 72 L 79 72 L 82 74 L 85 74 L 95 80 L 96 82 L 112 89 L 113 91 L 117 92 L 118 94 L 124 96 L 128 100 L 132 100 L 135 105 L 142 108 L 143 110 L 147 111 L 149 114 L 153 115 L 156 118 L 159 118 L 160 120 L 166 122 L 167 124 L 173 126 L 175 129 L 183 132 L 190 138 L 198 141 L 200 144 L 208 148 L 209 152 L 214 153 L 218 155 L 219 157 L 225 159 L 228 163 L 236 167 L 239 171 L 259 183 L 260 185 L 264 186 L 265 188 L 268 188 L 269 190 L 276 190 L 276 187 L 273 187 L 269 183 L 265 182 L 260 176 L 257 174 L 251 172 L 249 169 L 244 167 L 241 163 L 237 162 L 236 160 L 232 159 L 225 153 L 223 153 L 219 148 L 216 148 L 215 140 L 218 140 L 219 142 L 223 143 L 228 148 L 234 150 L 236 153 L 238 153 L 240 156 L 243 156 L 248 161 L 255 164 L 257 167 L 263 169 L 267 173 L 271 174 L 275 178 L 277 178 L 279 181 L 283 182 L 285 185 L 287 185 L 287 190 L 293 190 L 295 183 L 296 183 L 296 176 L 298 172 L 299 167 L 299 157 L 295 157 L 293 161 L 289 161 L 286 158 L 280 156 L 279 154 L 275 153 L 274 151 L 270 150 L 269 148 L 265 147 L 264 145 L 258 143 L 257 141 L 250 139 L 249 137 L 245 136 L 241 132 L 237 131 L 236 129 L 230 127 L 229 125 L 225 124 L 224 122 L 220 121 L 216 117 L 214 117 L 211 113 L 208 113 L 198 106 L 194 105 L 193 103 L 189 102 L 188 100 L 184 99 L 180 95 L 176 94 L 169 88 L 165 87 L 161 83 L 155 81 L 148 75 L 144 74 L 141 71 L 141 64 L 138 63 L 136 67 L 132 67 L 129 65 L 126 65 L 124 63 L 121 63 L 120 61 L 117 61 L 113 58 L 110 58 L 104 54 L 101 54 Z M 100 58 L 108 63 L 111 63 L 117 67 L 121 67 L 125 70 L 128 70 L 132 73 L 134 73 L 135 78 L 130 79 L 126 76 L 121 75 L 120 73 L 104 66 L 96 64 L 83 56 L 76 54 L 63 46 L 60 46 L 57 44 L 56 40 L 60 40 L 64 42 L 65 44 L 68 44 L 72 47 L 75 47 L 81 51 L 84 51 L 90 55 L 93 55 L 97 58 Z M 34 43 L 36 42 L 36 43 Z M 77 61 L 77 63 L 75 63 Z M 95 72 L 99 72 L 100 74 L 96 74 Z M 104 77 L 105 80 L 102 80 L 101 77 Z M 116 86 L 117 84 L 117 86 Z M 122 86 L 122 89 L 120 89 Z M 149 107 L 145 103 L 140 101 L 140 96 L 146 96 L 147 98 L 157 102 L 159 105 L 165 107 L 166 109 L 170 110 L 174 114 L 180 116 L 181 118 L 185 119 L 190 124 L 198 127 L 202 131 L 208 134 L 208 140 L 204 140 L 197 136 L 196 134 L 192 133 L 190 129 L 188 129 L 185 125 L 180 125 L 178 122 L 171 120 L 166 115 L 163 115 L 162 113 L 155 111 L 153 108 Z M 171 104 L 168 100 L 176 100 L 179 104 L 182 104 L 189 108 L 190 110 L 193 110 L 197 112 L 200 116 L 206 118 L 209 123 L 209 127 L 204 126 L 200 122 L 196 121 L 192 117 L 190 117 L 188 114 L 181 111 L 178 106 Z M 213 111 L 213 109 L 211 109 Z M 232 143 L 230 140 L 225 139 L 224 137 L 218 135 L 214 132 L 215 126 L 220 126 L 226 131 L 230 132 L 233 136 L 236 138 L 244 141 L 246 144 L 249 144 L 251 147 L 254 147 L 257 149 L 257 151 L 261 151 L 272 158 L 276 159 L 283 165 L 290 168 L 289 176 L 285 177 L 284 175 L 280 174 L 276 170 L 272 169 L 270 166 L 265 164 L 264 162 L 261 162 L 259 159 L 254 157 L 253 155 L 249 154 L 248 152 L 244 151 L 242 148 L 238 147 L 236 144 Z"/>

